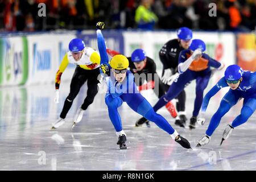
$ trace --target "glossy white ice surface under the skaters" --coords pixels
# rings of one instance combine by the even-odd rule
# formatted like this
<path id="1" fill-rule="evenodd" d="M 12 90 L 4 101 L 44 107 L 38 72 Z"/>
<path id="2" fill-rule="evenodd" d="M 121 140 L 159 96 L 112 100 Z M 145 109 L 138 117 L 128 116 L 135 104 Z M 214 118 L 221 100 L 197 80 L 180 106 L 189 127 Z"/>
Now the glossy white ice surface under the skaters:
<path id="1" fill-rule="evenodd" d="M 192 83 L 186 88 L 188 119 L 193 110 L 194 86 Z M 53 84 L 0 88 L 1 170 L 256 170 L 255 113 L 220 146 L 226 125 L 240 114 L 241 101 L 222 118 L 210 143 L 195 149 L 226 89 L 210 100 L 205 125 L 197 125 L 192 131 L 175 126 L 167 110 L 159 110 L 191 142 L 193 150 L 182 148 L 154 123 L 150 128 L 134 127 L 140 116 L 125 103 L 119 113 L 127 134 L 127 150 L 119 150 L 103 93 L 97 94 L 82 121 L 72 129 L 73 116 L 86 95 L 86 84 L 65 124 L 51 131 L 51 123 L 59 117 L 68 95 L 69 82 L 61 83 L 59 104 L 54 102 L 54 89 Z M 152 105 L 157 101 L 151 90 L 143 92 L 143 96 Z"/>

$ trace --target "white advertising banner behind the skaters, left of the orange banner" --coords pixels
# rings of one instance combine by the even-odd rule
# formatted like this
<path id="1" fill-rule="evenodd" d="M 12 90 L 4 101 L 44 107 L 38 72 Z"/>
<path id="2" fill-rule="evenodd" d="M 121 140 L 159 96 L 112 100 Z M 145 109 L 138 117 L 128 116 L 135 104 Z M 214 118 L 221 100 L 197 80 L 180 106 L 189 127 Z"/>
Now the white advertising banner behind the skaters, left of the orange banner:
<path id="1" fill-rule="evenodd" d="M 148 32 L 123 32 L 125 42 L 125 55 L 130 56 L 134 49 L 142 48 L 148 57 L 155 60 L 157 72 L 162 74 L 162 63 L 158 53 L 164 43 L 168 40 L 176 39 L 176 32 L 167 31 L 148 31 Z M 221 61 L 225 65 L 236 63 L 235 51 L 236 41 L 232 33 L 214 32 L 193 32 L 193 39 L 201 39 L 205 42 L 210 57 Z"/>

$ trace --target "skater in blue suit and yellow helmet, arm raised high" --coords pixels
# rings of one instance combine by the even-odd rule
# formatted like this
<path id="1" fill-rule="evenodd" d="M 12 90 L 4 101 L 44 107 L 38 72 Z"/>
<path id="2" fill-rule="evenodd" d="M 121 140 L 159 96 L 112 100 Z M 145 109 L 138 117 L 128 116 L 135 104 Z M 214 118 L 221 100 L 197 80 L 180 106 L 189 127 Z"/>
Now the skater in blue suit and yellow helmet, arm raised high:
<path id="1" fill-rule="evenodd" d="M 133 73 L 127 70 L 129 61 L 123 55 L 115 55 L 108 60 L 106 45 L 101 29 L 103 22 L 98 22 L 96 26 L 98 49 L 100 51 L 101 65 L 100 71 L 104 73 L 108 91 L 105 102 L 108 106 L 109 118 L 113 123 L 120 148 L 126 148 L 126 134 L 122 129 L 121 117 L 117 108 L 126 102 L 135 112 L 143 115 L 148 120 L 155 122 L 158 127 L 171 135 L 173 139 L 184 148 L 191 148 L 187 139 L 181 137 L 176 130 L 162 117 L 156 114 L 148 101 L 139 93 L 134 82 Z"/>

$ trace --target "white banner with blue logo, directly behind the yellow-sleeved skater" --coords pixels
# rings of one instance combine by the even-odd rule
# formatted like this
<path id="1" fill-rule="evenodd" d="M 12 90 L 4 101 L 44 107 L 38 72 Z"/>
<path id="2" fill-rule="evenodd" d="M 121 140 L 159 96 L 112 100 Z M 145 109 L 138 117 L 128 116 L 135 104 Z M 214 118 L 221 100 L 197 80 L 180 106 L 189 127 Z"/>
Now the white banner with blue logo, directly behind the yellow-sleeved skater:
<path id="1" fill-rule="evenodd" d="M 28 36 L 29 77 L 27 84 L 55 82 L 56 72 L 73 38 L 76 38 L 75 34 Z M 75 66 L 69 64 L 61 76 L 61 81 L 71 80 L 74 71 Z"/>

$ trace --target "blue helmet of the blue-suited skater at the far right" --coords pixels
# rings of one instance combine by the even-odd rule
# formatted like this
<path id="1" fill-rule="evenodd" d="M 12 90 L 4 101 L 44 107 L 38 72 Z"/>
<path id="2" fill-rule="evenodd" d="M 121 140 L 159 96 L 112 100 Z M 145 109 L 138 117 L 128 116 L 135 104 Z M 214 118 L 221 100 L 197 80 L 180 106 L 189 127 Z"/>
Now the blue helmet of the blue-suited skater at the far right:
<path id="1" fill-rule="evenodd" d="M 243 69 L 236 65 L 229 65 L 225 71 L 225 79 L 228 81 L 239 80 L 243 76 Z"/>

